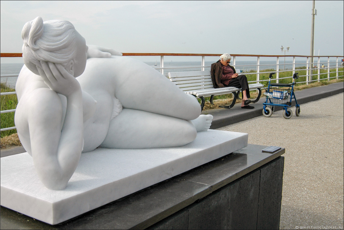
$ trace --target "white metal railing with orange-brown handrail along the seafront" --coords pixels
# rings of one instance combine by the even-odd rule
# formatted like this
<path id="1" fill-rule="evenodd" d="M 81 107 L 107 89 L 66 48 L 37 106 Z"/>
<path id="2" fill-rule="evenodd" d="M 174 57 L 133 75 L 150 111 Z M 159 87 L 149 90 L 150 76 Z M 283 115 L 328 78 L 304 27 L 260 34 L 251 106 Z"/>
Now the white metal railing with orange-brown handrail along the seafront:
<path id="1" fill-rule="evenodd" d="M 205 59 L 206 57 L 214 57 L 217 56 L 219 57 L 221 54 L 162 54 L 162 55 L 158 55 L 158 54 L 152 54 L 149 53 L 147 55 L 142 54 L 142 53 L 123 53 L 123 56 L 160 56 L 160 67 L 154 67 L 154 69 L 159 70 L 161 74 L 165 75 L 167 77 L 167 71 L 171 71 L 171 70 L 178 70 L 178 71 L 185 71 L 186 70 L 190 70 L 192 71 L 193 69 L 201 69 L 201 70 L 205 70 L 205 69 L 210 69 L 211 66 L 205 66 Z M 250 74 L 256 74 L 257 78 L 254 81 L 249 81 L 249 83 L 252 82 L 257 82 L 257 83 L 261 83 L 264 81 L 269 81 L 268 79 L 260 79 L 260 76 L 262 73 L 267 73 L 266 68 L 270 67 L 269 69 L 273 69 L 273 72 L 276 72 L 276 83 L 278 83 L 280 80 L 282 79 L 287 79 L 287 78 L 292 78 L 293 74 L 295 73 L 295 71 L 300 71 L 300 70 L 305 70 L 305 75 L 299 75 L 300 77 L 305 77 L 305 81 L 300 81 L 298 83 L 310 83 L 310 82 L 314 82 L 314 81 L 318 81 L 320 82 L 320 80 L 323 80 L 320 78 L 320 76 L 324 73 L 321 73 L 321 70 L 324 70 L 325 68 L 327 69 L 327 79 L 328 81 L 330 79 L 338 79 L 343 77 L 343 70 L 339 71 L 339 68 L 341 66 L 343 66 L 343 59 L 341 62 L 338 61 L 338 58 L 340 58 L 339 56 L 271 56 L 271 55 L 241 55 L 241 54 L 231 54 L 232 55 L 232 62 L 233 62 L 233 66 L 237 67 L 243 71 L 245 71 L 245 75 L 249 76 Z M 190 57 L 201 57 L 201 61 L 200 61 L 200 65 L 195 65 L 195 66 L 173 66 L 173 67 L 167 67 L 164 66 L 164 57 L 165 56 L 190 56 Z M 1 56 L 3 57 L 3 56 Z M 280 57 L 291 57 L 292 58 L 292 62 L 289 63 L 281 63 L 279 58 Z M 310 62 L 310 57 L 313 58 L 318 58 L 317 62 Z M 252 63 L 243 63 L 245 61 L 241 60 L 241 61 L 237 61 L 237 58 L 256 58 L 256 61 L 251 61 Z M 274 63 L 267 63 L 267 64 L 260 64 L 261 62 L 261 58 L 273 58 L 275 59 L 275 61 L 273 61 Z M 304 59 L 304 61 L 296 61 L 296 58 L 300 58 L 300 59 Z M 327 58 L 326 61 L 320 61 L 320 58 Z M 335 61 L 330 61 L 330 58 L 335 59 Z M 341 57 L 342 58 L 342 57 Z M 314 59 L 313 59 L 314 60 Z M 241 64 L 240 64 L 241 62 Z M 253 63 L 254 62 L 254 63 Z M 270 60 L 271 62 L 271 60 Z M 324 65 L 324 67 L 322 68 L 320 65 Z M 296 69 L 296 67 L 304 67 L 304 69 Z M 273 67 L 273 68 L 272 68 Z M 287 68 L 286 68 L 287 67 Z M 288 68 L 290 67 L 290 68 Z M 283 70 L 280 70 L 282 69 Z M 164 70 L 166 70 L 166 73 L 164 74 Z M 250 71 L 247 71 L 250 70 Z M 253 72 L 252 72 L 253 70 Z M 282 72 L 287 72 L 287 71 L 292 71 L 292 74 L 290 77 L 284 77 L 281 78 L 280 77 L 280 73 Z M 315 73 L 314 73 L 315 72 Z M 330 77 L 331 73 L 335 73 L 334 77 Z M 10 77 L 18 77 L 18 74 L 4 74 L 1 75 L 1 78 L 10 78 Z M 313 77 L 315 77 L 316 79 L 313 79 Z M 275 80 L 275 79 L 274 79 Z M 16 94 L 16 92 L 3 92 L 1 93 L 0 96 L 3 95 L 9 95 L 9 94 Z M 9 112 L 15 112 L 15 109 L 11 109 L 11 110 L 3 110 L 1 111 L 1 113 L 9 113 Z M 0 131 L 5 131 L 5 130 L 11 130 L 11 129 L 15 129 L 15 127 L 8 127 L 8 128 L 2 128 L 0 129 Z"/>

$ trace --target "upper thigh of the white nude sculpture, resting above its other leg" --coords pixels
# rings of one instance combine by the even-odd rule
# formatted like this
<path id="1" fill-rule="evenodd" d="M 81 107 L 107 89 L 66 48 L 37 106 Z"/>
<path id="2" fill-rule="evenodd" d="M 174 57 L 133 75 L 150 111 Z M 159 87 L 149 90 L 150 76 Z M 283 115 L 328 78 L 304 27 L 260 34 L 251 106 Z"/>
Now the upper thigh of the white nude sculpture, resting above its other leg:
<path id="1" fill-rule="evenodd" d="M 118 76 L 125 79 L 124 83 L 116 84 L 115 91 L 123 107 L 185 120 L 200 116 L 201 106 L 198 101 L 158 71 L 153 69 L 123 76 Z"/>

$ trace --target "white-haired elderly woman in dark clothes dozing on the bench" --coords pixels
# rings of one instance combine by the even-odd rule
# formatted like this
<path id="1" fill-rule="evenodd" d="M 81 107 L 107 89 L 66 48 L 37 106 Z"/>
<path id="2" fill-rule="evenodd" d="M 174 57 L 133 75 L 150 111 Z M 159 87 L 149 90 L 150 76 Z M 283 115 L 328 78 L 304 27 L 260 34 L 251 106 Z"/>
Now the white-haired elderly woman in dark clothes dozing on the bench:
<path id="1" fill-rule="evenodd" d="M 248 82 L 245 75 L 239 75 L 235 72 L 233 66 L 230 66 L 230 54 L 224 53 L 220 56 L 220 60 L 213 63 L 211 66 L 211 74 L 214 88 L 222 87 L 236 87 L 241 88 L 243 93 L 243 101 L 241 102 L 242 109 L 253 109 L 255 107 L 249 106 L 251 103 L 250 91 L 248 89 Z"/>

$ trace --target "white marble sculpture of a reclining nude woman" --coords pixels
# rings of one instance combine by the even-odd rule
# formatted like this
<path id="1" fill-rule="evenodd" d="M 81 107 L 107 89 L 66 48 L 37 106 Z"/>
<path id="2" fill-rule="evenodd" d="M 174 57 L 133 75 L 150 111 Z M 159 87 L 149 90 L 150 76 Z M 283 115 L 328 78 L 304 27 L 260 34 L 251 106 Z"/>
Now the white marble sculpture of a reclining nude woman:
<path id="1" fill-rule="evenodd" d="M 67 186 L 82 152 L 183 146 L 211 125 L 193 96 L 143 62 L 88 49 L 68 21 L 37 17 L 22 38 L 15 125 L 48 189 Z"/>

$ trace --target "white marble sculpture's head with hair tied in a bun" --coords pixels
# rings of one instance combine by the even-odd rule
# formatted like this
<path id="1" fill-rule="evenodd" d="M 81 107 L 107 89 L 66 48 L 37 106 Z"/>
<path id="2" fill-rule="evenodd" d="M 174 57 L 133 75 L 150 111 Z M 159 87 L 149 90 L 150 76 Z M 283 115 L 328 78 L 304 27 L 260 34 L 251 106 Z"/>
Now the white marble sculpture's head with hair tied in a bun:
<path id="1" fill-rule="evenodd" d="M 22 39 L 24 63 L 33 73 L 39 75 L 40 61 L 59 63 L 74 77 L 84 72 L 88 47 L 72 23 L 37 17 L 25 23 Z"/>

